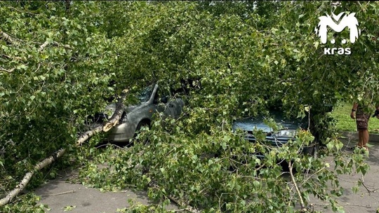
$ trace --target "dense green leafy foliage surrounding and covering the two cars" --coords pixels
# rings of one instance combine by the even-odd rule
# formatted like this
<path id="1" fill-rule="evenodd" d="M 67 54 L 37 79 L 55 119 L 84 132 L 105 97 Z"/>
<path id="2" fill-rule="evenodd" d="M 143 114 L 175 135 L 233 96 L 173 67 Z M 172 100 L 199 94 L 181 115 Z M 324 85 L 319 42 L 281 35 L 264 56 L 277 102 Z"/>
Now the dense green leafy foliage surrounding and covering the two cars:
<path id="1" fill-rule="evenodd" d="M 135 186 L 154 200 L 174 195 L 206 212 L 295 212 L 310 195 L 338 209 L 336 174 L 365 173 L 368 166 L 361 153 L 341 153 L 323 107 L 377 101 L 369 91 L 378 90 L 379 5 L 331 3 L 0 2 L 0 176 L 6 177 L 0 195 L 36 161 L 67 147 L 63 162 L 77 159 L 84 165 L 81 181 L 99 188 Z M 352 55 L 324 55 L 328 45 L 313 34 L 317 17 L 332 11 L 357 13 L 362 33 Z M 136 139 L 149 144 L 105 151 L 93 143 L 72 146 L 84 118 L 109 98 L 156 81 L 186 107 L 182 118 L 164 127 L 157 118 Z M 298 155 L 312 141 L 310 132 L 280 149 L 248 144 L 232 132 L 236 118 L 273 108 L 300 116 L 310 109 L 310 128 L 325 153 Z M 249 154 L 255 151 L 267 158 Z M 333 170 L 325 156 L 333 156 Z M 278 165 L 282 160 L 288 172 Z M 41 174 L 32 186 L 39 180 Z M 148 187 L 152 182 L 159 188 Z"/>

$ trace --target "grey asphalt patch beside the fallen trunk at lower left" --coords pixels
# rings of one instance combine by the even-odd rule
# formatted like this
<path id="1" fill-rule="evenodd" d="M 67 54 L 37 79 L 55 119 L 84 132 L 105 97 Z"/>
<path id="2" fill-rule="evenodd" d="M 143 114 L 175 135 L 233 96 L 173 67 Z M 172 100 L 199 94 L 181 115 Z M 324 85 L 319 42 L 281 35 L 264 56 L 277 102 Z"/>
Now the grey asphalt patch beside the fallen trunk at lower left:
<path id="1" fill-rule="evenodd" d="M 128 200 L 133 200 L 134 204 L 153 204 L 145 191 L 100 191 L 97 188 L 67 181 L 76 176 L 77 170 L 61 171 L 56 179 L 48 181 L 34 191 L 36 195 L 41 196 L 40 202 L 48 205 L 50 209 L 48 212 L 113 213 L 117 212 L 117 209 L 130 207 L 131 203 Z M 178 207 L 168 205 L 166 209 L 178 209 Z"/>

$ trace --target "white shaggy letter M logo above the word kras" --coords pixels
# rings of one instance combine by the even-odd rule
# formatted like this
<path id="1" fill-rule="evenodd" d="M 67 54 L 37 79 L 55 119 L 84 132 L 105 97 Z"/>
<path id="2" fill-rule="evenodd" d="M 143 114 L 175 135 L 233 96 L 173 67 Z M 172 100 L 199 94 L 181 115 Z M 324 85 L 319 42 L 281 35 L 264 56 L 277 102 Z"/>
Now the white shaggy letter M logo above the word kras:
<path id="1" fill-rule="evenodd" d="M 345 27 L 348 27 L 350 29 L 350 42 L 354 43 L 355 40 L 358 39 L 358 36 L 361 34 L 361 29 L 358 28 L 358 20 L 354 17 L 355 13 L 350 13 L 349 15 L 345 14 L 343 18 L 340 19 L 343 14 L 345 14 L 345 12 L 338 15 L 332 13 L 333 19 L 330 15 L 319 17 L 319 25 L 314 28 L 314 32 L 321 38 L 321 43 L 326 43 L 328 40 L 328 26 L 335 32 L 342 32 Z M 337 24 L 335 21 L 340 21 L 340 23 Z M 334 43 L 334 41 L 332 41 L 332 43 Z"/>

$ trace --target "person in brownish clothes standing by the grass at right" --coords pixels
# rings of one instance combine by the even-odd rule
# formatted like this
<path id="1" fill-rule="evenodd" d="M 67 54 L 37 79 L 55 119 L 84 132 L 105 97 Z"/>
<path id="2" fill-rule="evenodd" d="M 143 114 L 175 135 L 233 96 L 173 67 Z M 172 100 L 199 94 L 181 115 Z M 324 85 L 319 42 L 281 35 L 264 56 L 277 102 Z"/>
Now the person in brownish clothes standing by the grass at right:
<path id="1" fill-rule="evenodd" d="M 376 118 L 379 119 L 379 115 L 377 114 L 377 111 L 379 111 L 379 105 L 376 107 L 375 115 Z M 355 114 L 355 115 L 354 115 Z M 370 119 L 371 114 L 364 111 L 364 106 L 359 105 L 357 103 L 353 104 L 352 107 L 352 113 L 350 114 L 350 117 L 352 119 L 355 119 L 357 122 L 357 130 L 358 130 L 358 144 L 357 146 L 359 148 L 364 148 L 368 150 L 367 143 L 368 143 L 368 120 Z M 350 149 L 354 149 L 354 146 Z"/>

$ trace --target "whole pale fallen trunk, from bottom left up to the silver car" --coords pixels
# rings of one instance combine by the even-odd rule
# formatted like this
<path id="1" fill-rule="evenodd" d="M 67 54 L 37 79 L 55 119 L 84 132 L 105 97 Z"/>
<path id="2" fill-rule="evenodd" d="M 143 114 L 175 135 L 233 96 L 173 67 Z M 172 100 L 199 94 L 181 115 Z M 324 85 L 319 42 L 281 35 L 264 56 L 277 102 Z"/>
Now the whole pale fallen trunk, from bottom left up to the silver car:
<path id="1" fill-rule="evenodd" d="M 107 132 L 111 130 L 112 127 L 114 127 L 114 125 L 117 125 L 117 123 L 119 122 L 119 119 L 121 118 L 124 112 L 123 102 L 125 100 L 127 92 L 128 90 L 123 91 L 121 97 L 116 103 L 116 109 L 114 111 L 114 114 L 112 115 L 111 118 L 109 118 L 107 123 L 99 124 L 95 126 L 93 129 L 84 132 L 78 137 L 78 140 L 77 140 L 78 146 L 86 142 L 89 138 L 91 138 L 96 133 Z M 32 179 L 35 172 L 42 170 L 44 167 L 47 167 L 48 165 L 51 165 L 51 163 L 53 163 L 55 160 L 62 157 L 65 154 L 65 151 L 66 149 L 59 149 L 58 151 L 55 151 L 55 153 L 53 153 L 48 158 L 45 158 L 44 160 L 41 160 L 39 163 L 34 165 L 33 170 L 27 172 L 25 176 L 22 178 L 22 180 L 20 181 L 20 183 L 17 186 L 15 186 L 15 188 L 12 191 L 6 193 L 6 196 L 4 198 L 1 198 L 0 207 L 11 202 L 13 198 L 15 198 L 22 190 L 24 190 L 24 188 L 27 186 L 29 181 Z"/>

